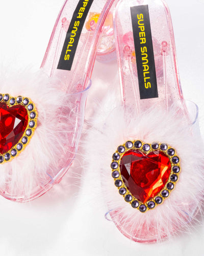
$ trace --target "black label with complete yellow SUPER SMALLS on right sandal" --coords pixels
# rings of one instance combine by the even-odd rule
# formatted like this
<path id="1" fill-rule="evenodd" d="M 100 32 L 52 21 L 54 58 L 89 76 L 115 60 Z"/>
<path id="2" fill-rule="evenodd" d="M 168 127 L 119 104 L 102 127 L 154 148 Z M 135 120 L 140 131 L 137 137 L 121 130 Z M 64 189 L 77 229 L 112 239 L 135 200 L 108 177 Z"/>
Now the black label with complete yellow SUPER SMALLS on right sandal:
<path id="1" fill-rule="evenodd" d="M 140 99 L 158 98 L 148 5 L 131 7 Z"/>

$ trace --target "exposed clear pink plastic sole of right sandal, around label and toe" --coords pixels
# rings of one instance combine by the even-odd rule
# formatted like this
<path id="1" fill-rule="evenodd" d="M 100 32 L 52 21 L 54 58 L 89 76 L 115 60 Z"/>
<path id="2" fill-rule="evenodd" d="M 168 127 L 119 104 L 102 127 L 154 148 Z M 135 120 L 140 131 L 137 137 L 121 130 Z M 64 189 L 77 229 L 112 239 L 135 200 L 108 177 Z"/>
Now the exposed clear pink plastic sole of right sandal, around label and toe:
<path id="1" fill-rule="evenodd" d="M 130 7 L 148 5 L 156 75 L 158 83 L 158 98 L 140 99 L 139 84 L 137 77 L 137 66 L 135 59 L 135 48 L 133 29 L 131 22 Z M 164 110 L 174 104 L 188 118 L 189 127 L 193 133 L 199 133 L 197 123 L 198 108 L 193 102 L 183 100 L 180 86 L 179 73 L 177 71 L 176 53 L 173 29 L 169 9 L 163 1 L 158 0 L 121 0 L 118 1 L 114 13 L 114 31 L 116 41 L 116 52 L 119 63 L 119 77 L 121 96 L 124 106 L 131 106 L 136 113 L 149 109 L 158 104 Z M 127 108 L 130 116 L 130 108 Z M 187 129 L 189 129 L 187 127 Z M 192 202 L 183 202 L 186 207 L 186 222 L 191 221 L 196 214 Z M 161 239 L 162 230 L 158 232 L 156 225 L 144 223 L 141 227 L 134 227 L 131 220 L 123 218 L 120 209 L 109 208 L 111 219 L 116 227 L 127 238 L 141 243 L 153 243 Z M 148 227 L 148 228 L 147 228 Z M 178 231 L 179 227 L 169 227 L 171 232 Z M 165 232 L 162 239 L 165 239 Z"/>

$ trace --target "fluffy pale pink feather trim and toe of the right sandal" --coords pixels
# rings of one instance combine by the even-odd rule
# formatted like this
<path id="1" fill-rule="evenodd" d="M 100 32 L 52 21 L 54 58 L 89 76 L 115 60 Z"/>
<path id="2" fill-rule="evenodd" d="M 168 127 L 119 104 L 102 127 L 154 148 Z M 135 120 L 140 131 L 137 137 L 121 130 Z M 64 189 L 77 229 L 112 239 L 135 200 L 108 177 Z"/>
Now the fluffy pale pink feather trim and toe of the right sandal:
<path id="1" fill-rule="evenodd" d="M 194 227 L 192 223 L 199 223 L 204 187 L 203 144 L 197 123 L 189 124 L 188 117 L 177 106 L 166 112 L 155 105 L 137 116 L 131 112 L 127 115 L 113 102 L 117 102 L 115 93 L 109 93 L 95 106 L 100 111 L 89 120 L 92 128 L 84 141 L 87 168 L 93 180 L 101 180 L 112 220 L 126 237 L 140 242 L 162 241 L 180 231 L 189 232 Z M 145 214 L 124 201 L 111 176 L 110 164 L 117 146 L 134 139 L 166 142 L 181 159 L 180 178 L 170 197 Z"/>

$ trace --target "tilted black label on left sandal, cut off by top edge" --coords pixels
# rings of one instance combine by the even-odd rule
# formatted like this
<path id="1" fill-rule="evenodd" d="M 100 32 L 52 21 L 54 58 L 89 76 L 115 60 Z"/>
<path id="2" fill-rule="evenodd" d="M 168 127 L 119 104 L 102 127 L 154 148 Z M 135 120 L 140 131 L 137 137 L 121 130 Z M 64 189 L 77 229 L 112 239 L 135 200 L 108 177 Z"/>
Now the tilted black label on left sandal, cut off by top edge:
<path id="1" fill-rule="evenodd" d="M 70 2 L 72 3 L 72 2 Z M 82 29 L 93 0 L 80 0 L 75 9 L 66 34 L 58 69 L 71 70 Z"/>

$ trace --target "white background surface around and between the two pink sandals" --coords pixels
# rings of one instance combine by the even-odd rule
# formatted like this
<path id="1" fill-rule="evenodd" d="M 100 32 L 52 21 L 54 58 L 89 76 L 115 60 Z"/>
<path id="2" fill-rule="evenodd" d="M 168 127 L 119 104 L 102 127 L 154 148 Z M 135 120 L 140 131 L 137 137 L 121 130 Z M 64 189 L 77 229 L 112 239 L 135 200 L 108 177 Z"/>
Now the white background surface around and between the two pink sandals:
<path id="1" fill-rule="evenodd" d="M 166 2 L 172 16 L 184 97 L 199 105 L 204 134 L 204 0 Z M 1 0 L 1 69 L 10 63 L 15 63 L 18 69 L 39 68 L 62 4 L 60 0 Z M 112 77 L 107 81 L 106 69 L 110 68 Z M 110 90 L 115 75 L 116 62 L 106 65 L 95 62 L 88 102 L 104 84 Z M 89 107 L 88 103 L 87 113 Z M 63 181 L 41 198 L 17 204 L 1 197 L 0 255 L 204 255 L 204 226 L 190 236 L 184 234 L 161 244 L 137 244 L 122 236 L 104 218 L 103 195 L 99 186 L 94 189 L 89 186 L 88 172 L 79 156 Z"/>

